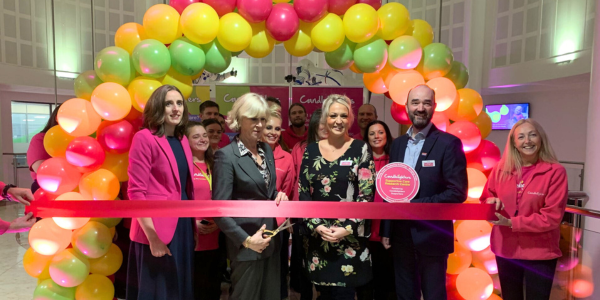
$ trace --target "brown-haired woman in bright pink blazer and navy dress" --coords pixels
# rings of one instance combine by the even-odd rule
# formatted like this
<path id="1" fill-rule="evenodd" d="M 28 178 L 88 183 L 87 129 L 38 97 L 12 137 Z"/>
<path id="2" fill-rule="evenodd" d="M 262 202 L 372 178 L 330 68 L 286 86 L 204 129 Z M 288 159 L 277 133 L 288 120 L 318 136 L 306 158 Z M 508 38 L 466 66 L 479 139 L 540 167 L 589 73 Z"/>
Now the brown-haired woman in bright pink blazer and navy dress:
<path id="1" fill-rule="evenodd" d="M 194 199 L 188 111 L 172 85 L 158 88 L 144 108 L 143 129 L 129 151 L 131 201 Z M 137 218 L 131 223 L 127 299 L 193 299 L 193 218 Z"/>

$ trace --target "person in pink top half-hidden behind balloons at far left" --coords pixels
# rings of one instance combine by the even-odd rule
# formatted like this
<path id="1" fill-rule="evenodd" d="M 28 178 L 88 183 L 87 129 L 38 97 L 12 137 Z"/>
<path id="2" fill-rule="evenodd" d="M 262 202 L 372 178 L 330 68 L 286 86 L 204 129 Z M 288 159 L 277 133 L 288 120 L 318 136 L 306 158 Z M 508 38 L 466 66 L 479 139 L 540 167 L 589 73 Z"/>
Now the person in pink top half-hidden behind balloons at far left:
<path id="1" fill-rule="evenodd" d="M 52 158 L 44 148 L 44 137 L 50 128 L 58 125 L 56 116 L 58 115 L 59 108 L 60 105 L 54 108 L 54 111 L 50 115 L 48 123 L 46 123 L 44 129 L 31 138 L 31 141 L 29 142 L 29 148 L 27 148 L 27 165 L 29 165 L 31 179 L 33 179 L 33 183 L 31 184 L 32 193 L 35 193 L 35 191 L 40 188 L 40 185 L 37 183 L 37 169 L 45 160 Z"/>

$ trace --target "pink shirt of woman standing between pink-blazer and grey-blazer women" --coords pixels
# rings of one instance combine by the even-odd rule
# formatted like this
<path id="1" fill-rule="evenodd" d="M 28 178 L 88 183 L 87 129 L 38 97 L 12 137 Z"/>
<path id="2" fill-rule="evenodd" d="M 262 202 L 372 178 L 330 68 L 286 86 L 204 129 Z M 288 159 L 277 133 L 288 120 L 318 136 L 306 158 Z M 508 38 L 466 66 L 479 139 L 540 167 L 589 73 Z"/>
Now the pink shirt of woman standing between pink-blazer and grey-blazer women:
<path id="1" fill-rule="evenodd" d="M 192 176 L 192 180 L 194 181 L 194 200 L 207 201 L 212 200 L 212 191 L 210 189 L 209 180 L 204 176 L 201 169 L 207 174 L 210 178 L 210 173 L 206 172 L 206 164 L 205 163 L 194 163 L 194 173 Z M 210 222 L 214 222 L 212 218 L 202 218 L 197 217 L 196 220 L 207 220 Z M 209 233 L 209 234 L 200 234 L 198 235 L 198 244 L 196 245 L 196 251 L 206 251 L 206 250 L 215 250 L 219 248 L 219 229 Z"/>

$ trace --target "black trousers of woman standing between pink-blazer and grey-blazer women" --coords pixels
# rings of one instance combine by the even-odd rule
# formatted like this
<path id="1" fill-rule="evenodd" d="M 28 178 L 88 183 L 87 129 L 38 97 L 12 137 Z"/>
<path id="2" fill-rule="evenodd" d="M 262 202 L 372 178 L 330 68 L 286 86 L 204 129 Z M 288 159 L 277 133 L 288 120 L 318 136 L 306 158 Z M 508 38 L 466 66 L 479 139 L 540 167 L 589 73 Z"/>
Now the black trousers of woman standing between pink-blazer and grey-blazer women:
<path id="1" fill-rule="evenodd" d="M 221 277 L 219 249 L 196 251 L 194 253 L 194 295 L 196 300 L 219 300 L 221 298 Z"/>

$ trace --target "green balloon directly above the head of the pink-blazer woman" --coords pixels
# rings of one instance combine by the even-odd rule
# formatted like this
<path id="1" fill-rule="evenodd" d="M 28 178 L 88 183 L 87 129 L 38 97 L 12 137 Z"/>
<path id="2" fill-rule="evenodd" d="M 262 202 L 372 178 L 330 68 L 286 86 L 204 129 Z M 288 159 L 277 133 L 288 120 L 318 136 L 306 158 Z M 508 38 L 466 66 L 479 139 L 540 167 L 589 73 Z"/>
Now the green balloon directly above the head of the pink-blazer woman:
<path id="1" fill-rule="evenodd" d="M 160 78 L 171 67 L 171 54 L 165 45 L 157 40 L 143 40 L 131 53 L 135 70 L 143 76 Z"/>

